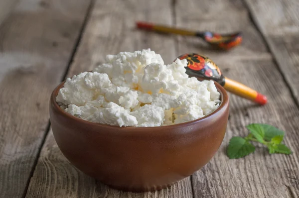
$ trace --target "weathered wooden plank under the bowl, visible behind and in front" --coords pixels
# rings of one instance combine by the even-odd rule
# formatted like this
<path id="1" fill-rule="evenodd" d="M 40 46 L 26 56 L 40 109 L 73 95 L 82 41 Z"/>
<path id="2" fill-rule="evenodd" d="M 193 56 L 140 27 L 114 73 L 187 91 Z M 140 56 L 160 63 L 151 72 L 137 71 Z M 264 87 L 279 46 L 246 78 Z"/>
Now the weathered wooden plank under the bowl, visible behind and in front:
<path id="1" fill-rule="evenodd" d="M 165 62 L 176 57 L 173 37 L 135 29 L 135 20 L 172 24 L 170 0 L 98 0 L 78 47 L 68 76 L 92 70 L 107 54 L 151 48 Z M 190 178 L 170 188 L 150 193 L 125 193 L 110 189 L 74 168 L 59 151 L 49 133 L 31 179 L 28 198 L 191 198 Z"/>

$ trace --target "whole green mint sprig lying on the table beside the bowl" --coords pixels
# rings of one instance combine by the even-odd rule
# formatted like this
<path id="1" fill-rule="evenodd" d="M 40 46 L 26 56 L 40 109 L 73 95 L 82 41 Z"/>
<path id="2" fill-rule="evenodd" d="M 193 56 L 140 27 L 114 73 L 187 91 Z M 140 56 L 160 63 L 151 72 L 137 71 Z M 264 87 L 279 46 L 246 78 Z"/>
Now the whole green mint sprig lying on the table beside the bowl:
<path id="1" fill-rule="evenodd" d="M 232 137 L 227 148 L 227 155 L 230 159 L 238 159 L 255 151 L 251 141 L 259 142 L 267 146 L 269 153 L 282 153 L 289 155 L 290 148 L 282 143 L 285 132 L 269 124 L 249 124 L 246 128 L 250 133 L 246 137 Z"/>

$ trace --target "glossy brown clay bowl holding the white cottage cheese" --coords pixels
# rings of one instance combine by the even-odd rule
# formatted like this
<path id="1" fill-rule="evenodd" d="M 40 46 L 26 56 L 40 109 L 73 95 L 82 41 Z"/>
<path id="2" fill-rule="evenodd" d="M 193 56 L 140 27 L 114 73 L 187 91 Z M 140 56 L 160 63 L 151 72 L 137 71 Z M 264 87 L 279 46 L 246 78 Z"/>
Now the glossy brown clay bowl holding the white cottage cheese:
<path id="1" fill-rule="evenodd" d="M 118 127 L 74 117 L 56 103 L 63 84 L 50 99 L 55 140 L 75 167 L 112 188 L 133 192 L 165 188 L 207 164 L 225 134 L 229 101 L 218 83 L 221 104 L 213 113 L 159 127 Z"/>

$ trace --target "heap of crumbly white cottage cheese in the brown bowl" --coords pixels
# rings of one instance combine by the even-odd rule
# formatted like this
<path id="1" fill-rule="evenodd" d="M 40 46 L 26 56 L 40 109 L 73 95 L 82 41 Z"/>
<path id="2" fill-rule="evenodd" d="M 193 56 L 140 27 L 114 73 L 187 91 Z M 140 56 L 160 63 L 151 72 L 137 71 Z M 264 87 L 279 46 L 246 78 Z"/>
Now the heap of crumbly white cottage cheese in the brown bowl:
<path id="1" fill-rule="evenodd" d="M 186 60 L 164 65 L 142 50 L 108 55 L 93 72 L 68 78 L 56 101 L 68 113 L 101 124 L 150 127 L 187 122 L 219 106 L 213 81 L 189 78 Z"/>

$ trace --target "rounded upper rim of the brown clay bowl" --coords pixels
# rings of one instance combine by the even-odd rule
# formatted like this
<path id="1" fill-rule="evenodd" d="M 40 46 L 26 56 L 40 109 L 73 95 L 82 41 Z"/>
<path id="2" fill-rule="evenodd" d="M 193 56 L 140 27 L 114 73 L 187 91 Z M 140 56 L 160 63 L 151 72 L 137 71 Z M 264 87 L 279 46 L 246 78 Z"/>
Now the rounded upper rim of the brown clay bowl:
<path id="1" fill-rule="evenodd" d="M 190 77 L 192 77 L 192 76 L 190 76 Z M 204 79 L 204 78 L 197 78 L 197 79 L 199 81 L 208 80 L 208 79 Z M 145 134 L 145 132 L 148 131 L 149 129 L 152 129 L 152 130 L 154 130 L 154 129 L 161 129 L 161 130 L 167 129 L 167 130 L 169 130 L 169 129 L 172 129 L 172 128 L 184 127 L 184 126 L 196 124 L 198 122 L 202 122 L 204 120 L 207 120 L 207 119 L 211 118 L 214 114 L 218 113 L 224 106 L 229 104 L 229 98 L 228 98 L 228 94 L 227 94 L 226 90 L 219 83 L 214 81 L 215 86 L 216 86 L 218 92 L 220 93 L 221 102 L 220 102 L 220 105 L 218 106 L 218 108 L 216 110 L 214 110 L 212 113 L 210 113 L 206 116 L 203 116 L 203 117 L 201 117 L 199 119 L 196 119 L 196 120 L 183 122 L 183 123 L 179 123 L 179 124 L 166 125 L 166 126 L 150 126 L 150 127 L 124 126 L 124 127 L 120 127 L 120 126 L 113 126 L 113 125 L 108 125 L 108 124 L 100 124 L 100 123 L 96 123 L 96 122 L 90 122 L 90 121 L 75 117 L 75 116 L 65 112 L 64 110 L 62 110 L 60 108 L 60 106 L 58 105 L 58 103 L 56 102 L 56 96 L 58 95 L 59 90 L 63 87 L 64 83 L 65 83 L 65 81 L 61 82 L 53 90 L 53 92 L 51 94 L 51 98 L 50 98 L 50 104 L 51 104 L 52 107 L 54 107 L 53 110 L 55 110 L 61 116 L 64 116 L 68 119 L 72 119 L 72 120 L 77 121 L 79 123 L 82 123 L 84 125 L 90 125 L 90 126 L 93 126 L 93 127 L 104 127 L 104 128 L 110 128 L 110 129 L 118 128 L 118 129 L 121 129 L 121 130 L 130 131 L 130 132 L 145 130 L 142 133 L 138 132 L 138 134 L 140 134 L 140 135 Z M 119 133 L 119 132 L 117 132 L 117 133 Z M 150 133 L 151 133 L 151 135 L 159 134 L 159 133 L 154 133 L 153 131 L 151 131 Z M 124 133 L 124 134 L 127 134 L 127 133 Z"/>

